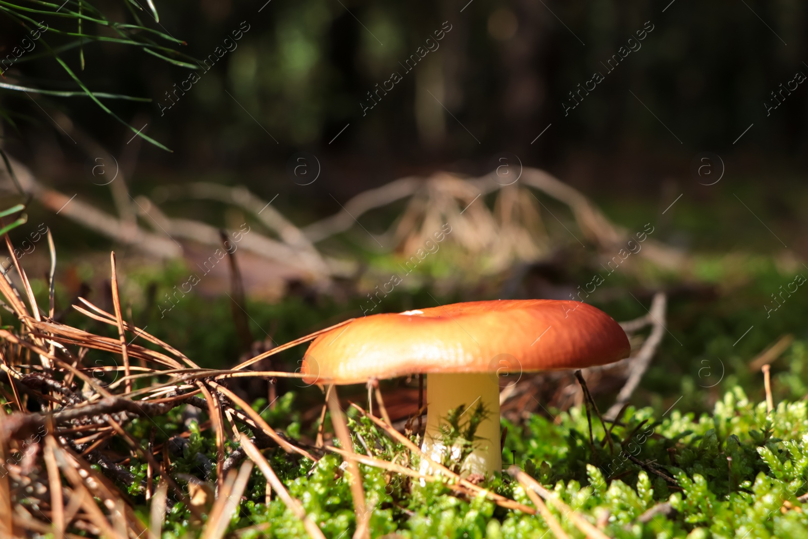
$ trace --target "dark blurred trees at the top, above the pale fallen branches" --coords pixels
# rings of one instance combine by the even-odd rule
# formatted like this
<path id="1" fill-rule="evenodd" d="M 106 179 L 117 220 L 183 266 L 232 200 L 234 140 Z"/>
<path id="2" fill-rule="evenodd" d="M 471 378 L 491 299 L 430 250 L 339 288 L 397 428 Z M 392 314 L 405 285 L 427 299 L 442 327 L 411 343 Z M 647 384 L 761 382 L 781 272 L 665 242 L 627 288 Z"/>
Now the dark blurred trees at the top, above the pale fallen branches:
<path id="1" fill-rule="evenodd" d="M 250 29 L 164 114 L 161 103 L 172 103 L 166 92 L 188 69 L 120 44 L 85 45 L 83 72 L 78 48 L 62 57 L 93 91 L 152 99 L 111 105 L 137 128 L 148 123 L 146 133 L 174 151 L 144 148 L 142 175 L 182 181 L 219 173 L 326 213 L 334 209 L 327 190 L 352 195 L 436 168 L 482 175 L 503 151 L 576 186 L 643 196 L 658 196 L 665 179 L 688 177 L 691 158 L 705 150 L 722 154 L 734 175 L 804 165 L 806 100 L 797 91 L 771 116 L 764 102 L 808 69 L 808 8 L 787 0 L 678 0 L 663 12 L 663 3 L 171 2 L 158 6 L 160 23 L 148 12 L 141 19 L 187 42 L 175 48 L 200 62 L 242 21 Z M 99 6 L 113 20 L 131 19 L 127 2 Z M 400 62 L 444 21 L 452 30 L 440 47 L 406 73 Z M 654 30 L 642 48 L 608 73 L 602 62 L 646 21 Z M 0 36 L 10 52 L 24 30 L 2 19 Z M 15 67 L 11 74 L 47 81 L 48 89 L 77 90 L 54 61 L 23 57 Z M 402 82 L 363 116 L 367 92 L 396 71 Z M 566 116 L 568 92 L 595 71 L 606 80 Z M 53 182 L 75 181 L 74 163 L 84 159 L 64 133 L 26 95 L 4 91 L 2 99 L 22 132 L 6 123 L 15 153 Z M 69 112 L 116 154 L 131 137 L 89 99 L 41 104 Z M 300 150 L 323 163 L 322 179 L 309 190 L 284 180 L 288 158 Z"/>

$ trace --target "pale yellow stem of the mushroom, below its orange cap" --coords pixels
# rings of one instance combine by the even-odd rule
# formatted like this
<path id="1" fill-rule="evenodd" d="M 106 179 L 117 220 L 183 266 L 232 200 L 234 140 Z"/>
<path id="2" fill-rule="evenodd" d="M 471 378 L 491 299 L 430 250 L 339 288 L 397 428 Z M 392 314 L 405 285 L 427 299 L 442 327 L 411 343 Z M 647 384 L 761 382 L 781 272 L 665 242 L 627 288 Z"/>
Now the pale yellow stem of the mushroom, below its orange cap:
<path id="1" fill-rule="evenodd" d="M 457 406 L 464 406 L 460 418 L 461 427 L 468 422 L 478 403 L 482 402 L 487 413 L 475 433 L 473 452 L 465 459 L 461 475 L 482 474 L 490 478 L 494 471 L 502 470 L 502 450 L 499 447 L 499 381 L 495 373 L 431 373 L 427 375 L 427 431 L 421 449 L 433 461 L 441 462 L 451 452 L 459 457 L 461 444 L 451 448 L 443 444 L 440 425 L 446 424 L 448 413 Z M 427 463 L 421 465 L 429 469 Z"/>

